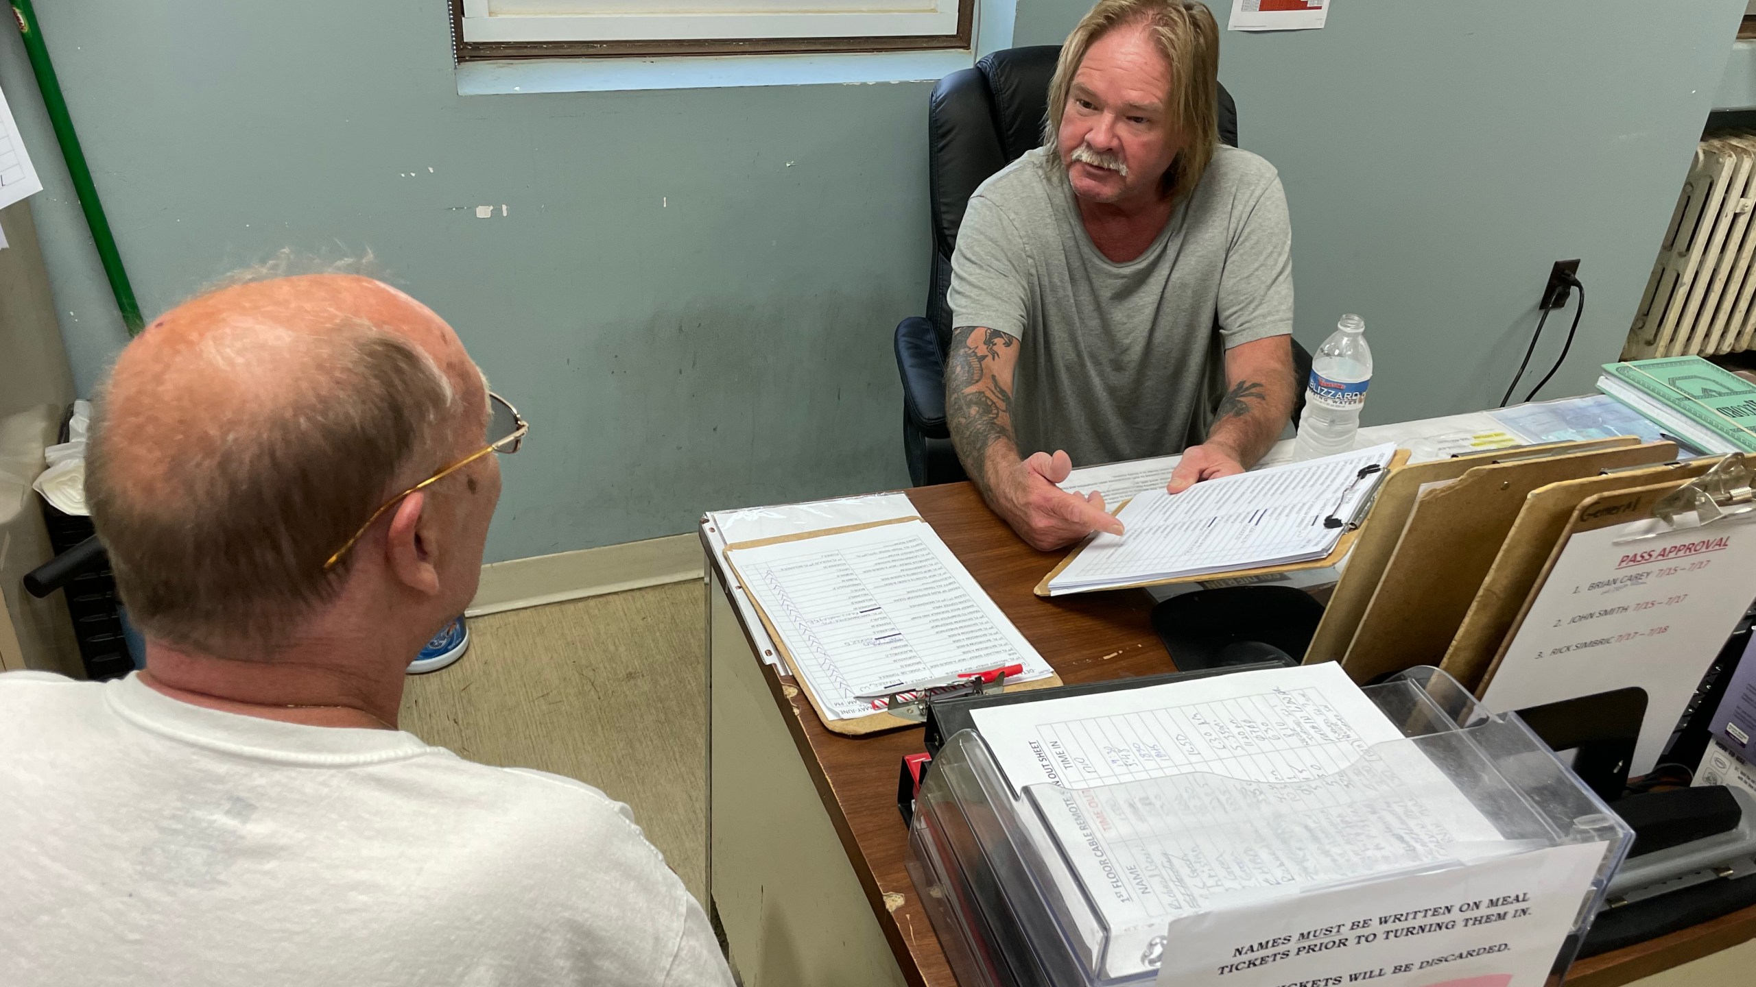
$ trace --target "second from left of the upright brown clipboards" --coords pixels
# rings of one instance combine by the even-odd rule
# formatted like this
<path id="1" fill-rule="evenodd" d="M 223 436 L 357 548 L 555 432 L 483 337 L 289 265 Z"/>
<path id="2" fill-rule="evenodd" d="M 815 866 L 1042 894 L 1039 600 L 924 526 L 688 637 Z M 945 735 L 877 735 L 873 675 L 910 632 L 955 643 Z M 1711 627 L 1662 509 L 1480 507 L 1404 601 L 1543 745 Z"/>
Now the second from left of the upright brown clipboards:
<path id="1" fill-rule="evenodd" d="M 1673 458 L 1675 443 L 1512 458 L 1477 465 L 1452 483 L 1422 490 L 1342 655 L 1342 667 L 1354 681 L 1371 681 L 1385 673 L 1438 664 L 1533 490 L 1603 469 Z"/>

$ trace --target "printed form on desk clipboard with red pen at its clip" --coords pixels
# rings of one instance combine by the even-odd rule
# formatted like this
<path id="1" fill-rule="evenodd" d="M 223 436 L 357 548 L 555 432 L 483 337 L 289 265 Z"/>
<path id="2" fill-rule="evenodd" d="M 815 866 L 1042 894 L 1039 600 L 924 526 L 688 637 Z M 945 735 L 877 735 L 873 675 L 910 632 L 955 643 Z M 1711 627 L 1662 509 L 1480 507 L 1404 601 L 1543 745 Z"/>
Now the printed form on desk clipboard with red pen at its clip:
<path id="1" fill-rule="evenodd" d="M 860 694 L 924 678 L 1054 669 L 920 520 L 730 548 L 738 580 L 774 625 L 794 673 L 836 720 L 873 713 Z"/>

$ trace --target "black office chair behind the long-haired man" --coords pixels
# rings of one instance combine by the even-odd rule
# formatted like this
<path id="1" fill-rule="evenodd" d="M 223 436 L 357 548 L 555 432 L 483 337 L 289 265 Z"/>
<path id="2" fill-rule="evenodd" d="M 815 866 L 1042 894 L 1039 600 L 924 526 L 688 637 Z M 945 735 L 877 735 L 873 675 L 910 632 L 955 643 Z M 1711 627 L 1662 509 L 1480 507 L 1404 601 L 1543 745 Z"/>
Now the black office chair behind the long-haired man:
<path id="1" fill-rule="evenodd" d="M 910 316 L 896 327 L 896 365 L 903 374 L 903 451 L 917 486 L 966 479 L 945 427 L 945 353 L 952 341 L 952 311 L 945 292 L 952 281 L 952 251 L 964 207 L 976 186 L 1008 162 L 1043 142 L 1048 116 L 1048 79 L 1061 46 L 1040 44 L 996 51 L 975 68 L 952 72 L 932 88 L 927 104 L 927 174 L 932 209 L 932 276 L 927 316 Z M 1219 90 L 1219 137 L 1238 146 L 1238 107 Z M 1292 344 L 1294 369 L 1303 383 L 1310 355 Z M 1305 404 L 1303 388 L 1298 406 Z M 1294 407 L 1294 423 L 1298 407 Z"/>

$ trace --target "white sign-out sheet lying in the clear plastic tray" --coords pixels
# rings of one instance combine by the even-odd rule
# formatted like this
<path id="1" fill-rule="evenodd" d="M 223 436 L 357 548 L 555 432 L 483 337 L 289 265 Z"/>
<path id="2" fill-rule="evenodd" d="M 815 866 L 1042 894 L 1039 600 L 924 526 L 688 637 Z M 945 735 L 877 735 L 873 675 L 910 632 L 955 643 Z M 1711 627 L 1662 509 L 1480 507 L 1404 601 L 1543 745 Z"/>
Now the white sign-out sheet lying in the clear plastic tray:
<path id="1" fill-rule="evenodd" d="M 1173 919 L 1510 850 L 1335 662 L 973 715 L 1112 929 L 1112 976 Z"/>

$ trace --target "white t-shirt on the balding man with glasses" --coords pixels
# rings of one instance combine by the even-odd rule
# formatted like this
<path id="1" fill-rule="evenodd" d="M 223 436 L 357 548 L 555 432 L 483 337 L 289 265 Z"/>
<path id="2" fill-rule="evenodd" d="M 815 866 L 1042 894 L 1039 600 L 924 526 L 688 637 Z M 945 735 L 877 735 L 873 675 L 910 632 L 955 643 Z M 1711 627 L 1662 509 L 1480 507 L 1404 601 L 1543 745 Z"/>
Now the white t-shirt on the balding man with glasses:
<path id="1" fill-rule="evenodd" d="M 629 808 L 413 734 L 0 674 L 0 983 L 729 985 Z"/>

